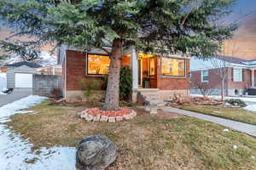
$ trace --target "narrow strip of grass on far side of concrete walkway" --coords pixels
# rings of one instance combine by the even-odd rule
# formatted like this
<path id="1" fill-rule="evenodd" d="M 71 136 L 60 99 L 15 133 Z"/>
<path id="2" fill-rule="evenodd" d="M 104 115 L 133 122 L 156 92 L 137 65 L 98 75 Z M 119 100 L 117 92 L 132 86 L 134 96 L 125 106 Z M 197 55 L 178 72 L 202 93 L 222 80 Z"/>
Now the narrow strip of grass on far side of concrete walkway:
<path id="1" fill-rule="evenodd" d="M 243 109 L 214 105 L 183 105 L 182 109 L 256 125 L 256 113 Z"/>

